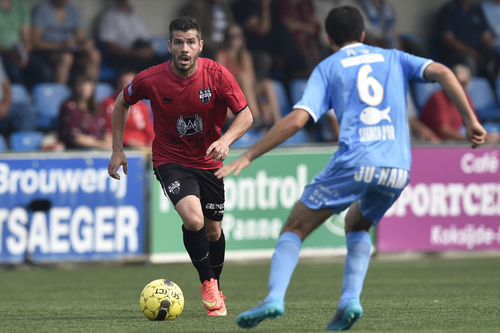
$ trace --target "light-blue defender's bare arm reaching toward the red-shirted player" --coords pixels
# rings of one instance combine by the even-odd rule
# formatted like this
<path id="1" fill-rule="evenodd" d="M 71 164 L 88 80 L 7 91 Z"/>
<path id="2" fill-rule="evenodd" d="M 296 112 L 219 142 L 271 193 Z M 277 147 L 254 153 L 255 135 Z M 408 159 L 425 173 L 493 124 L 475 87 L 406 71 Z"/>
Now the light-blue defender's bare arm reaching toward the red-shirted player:
<path id="1" fill-rule="evenodd" d="M 276 122 L 264 137 L 255 142 L 241 156 L 215 171 L 215 176 L 220 179 L 232 171 L 234 171 L 234 175 L 238 175 L 239 171 L 247 167 L 253 159 L 295 134 L 305 125 L 307 120 L 309 120 L 307 111 L 300 108 L 292 110 L 288 115 Z"/>

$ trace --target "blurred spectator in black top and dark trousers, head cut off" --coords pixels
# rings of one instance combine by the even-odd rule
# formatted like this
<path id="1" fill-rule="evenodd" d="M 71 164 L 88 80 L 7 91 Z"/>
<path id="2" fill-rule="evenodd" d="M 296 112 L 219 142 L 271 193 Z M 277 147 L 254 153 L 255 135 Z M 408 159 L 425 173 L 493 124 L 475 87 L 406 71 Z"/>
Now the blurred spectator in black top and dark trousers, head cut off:
<path id="1" fill-rule="evenodd" d="M 289 75 L 287 78 L 308 75 L 305 58 L 290 32 L 271 19 L 270 0 L 236 0 L 232 10 L 235 21 L 243 27 L 257 79 L 269 77 L 273 65 Z"/>

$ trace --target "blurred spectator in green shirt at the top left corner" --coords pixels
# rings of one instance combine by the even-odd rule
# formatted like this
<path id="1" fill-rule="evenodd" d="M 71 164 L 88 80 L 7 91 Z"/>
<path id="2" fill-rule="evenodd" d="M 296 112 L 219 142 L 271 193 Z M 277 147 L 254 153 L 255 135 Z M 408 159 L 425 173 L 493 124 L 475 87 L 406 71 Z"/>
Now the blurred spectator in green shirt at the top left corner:
<path id="1" fill-rule="evenodd" d="M 14 83 L 24 83 L 31 50 L 29 7 L 22 0 L 0 0 L 0 54 Z"/>

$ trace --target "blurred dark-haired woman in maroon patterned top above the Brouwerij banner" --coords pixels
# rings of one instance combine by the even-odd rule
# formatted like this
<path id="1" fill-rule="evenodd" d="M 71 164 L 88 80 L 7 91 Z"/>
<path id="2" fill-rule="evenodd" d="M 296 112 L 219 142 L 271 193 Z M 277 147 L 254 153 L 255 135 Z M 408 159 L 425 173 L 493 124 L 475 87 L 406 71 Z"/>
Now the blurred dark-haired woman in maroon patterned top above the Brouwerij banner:
<path id="1" fill-rule="evenodd" d="M 111 149 L 106 117 L 94 98 L 95 81 L 87 75 L 75 76 L 72 96 L 61 105 L 59 139 L 67 148 Z"/>

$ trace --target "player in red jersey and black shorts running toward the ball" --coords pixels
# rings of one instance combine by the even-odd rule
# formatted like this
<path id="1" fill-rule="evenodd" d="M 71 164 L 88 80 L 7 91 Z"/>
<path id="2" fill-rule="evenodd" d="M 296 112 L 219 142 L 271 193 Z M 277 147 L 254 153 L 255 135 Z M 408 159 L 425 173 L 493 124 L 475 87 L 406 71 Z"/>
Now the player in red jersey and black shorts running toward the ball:
<path id="1" fill-rule="evenodd" d="M 225 252 L 224 184 L 213 173 L 222 166 L 229 145 L 250 127 L 252 116 L 229 71 L 198 57 L 203 40 L 196 20 L 178 17 L 169 29 L 172 60 L 141 71 L 116 98 L 108 172 L 119 179 L 116 171 L 123 165 L 127 174 L 123 131 L 128 109 L 140 99 L 149 99 L 156 179 L 182 218 L 184 246 L 198 271 L 207 315 L 226 315 L 218 284 Z M 227 107 L 236 117 L 221 135 Z"/>

